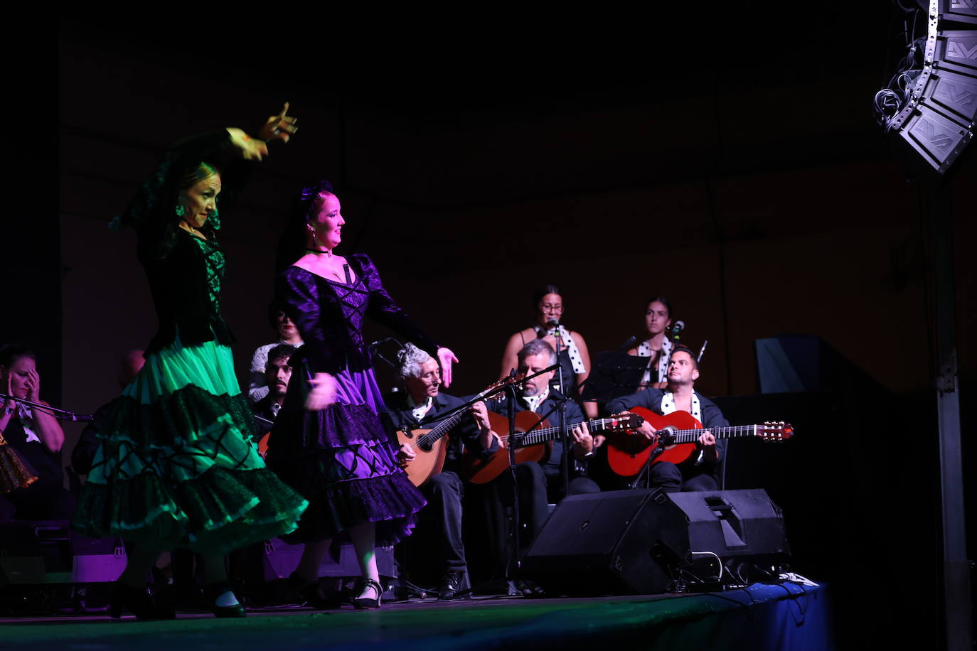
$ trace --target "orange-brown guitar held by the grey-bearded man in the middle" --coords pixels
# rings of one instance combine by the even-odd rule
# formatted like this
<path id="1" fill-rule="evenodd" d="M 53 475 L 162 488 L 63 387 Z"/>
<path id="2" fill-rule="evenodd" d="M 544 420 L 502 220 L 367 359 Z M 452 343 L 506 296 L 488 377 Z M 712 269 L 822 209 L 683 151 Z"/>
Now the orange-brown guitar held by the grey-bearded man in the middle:
<path id="1" fill-rule="evenodd" d="M 488 412 L 488 423 L 492 431 L 498 434 L 498 450 L 487 459 L 469 450 L 461 455 L 461 471 L 465 478 L 473 484 L 484 484 L 491 481 L 502 470 L 509 468 L 509 445 L 516 445 L 516 463 L 540 461 L 551 447 L 551 441 L 563 436 L 560 427 L 550 427 L 546 419 L 539 420 L 539 415 L 531 411 L 516 414 L 516 435 L 509 434 L 509 419 Z M 573 429 L 575 426 L 570 426 Z M 587 421 L 587 428 L 591 434 L 622 430 L 624 428 L 641 427 L 641 418 L 632 414 L 625 418 L 599 418 Z M 529 432 L 529 433 L 524 433 Z"/>

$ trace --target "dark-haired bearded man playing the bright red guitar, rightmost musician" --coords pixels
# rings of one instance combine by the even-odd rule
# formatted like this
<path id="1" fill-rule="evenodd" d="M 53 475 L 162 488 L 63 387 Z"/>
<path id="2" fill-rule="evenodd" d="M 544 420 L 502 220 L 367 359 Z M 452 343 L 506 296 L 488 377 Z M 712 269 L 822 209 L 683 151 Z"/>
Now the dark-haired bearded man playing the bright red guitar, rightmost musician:
<path id="1" fill-rule="evenodd" d="M 675 411 L 686 411 L 702 427 L 729 426 L 719 407 L 694 389 L 698 379 L 699 363 L 696 356 L 689 348 L 676 346 L 668 362 L 668 387 L 663 390 L 648 388 L 616 398 L 608 403 L 608 411 L 618 414 L 632 407 L 644 407 L 661 416 Z M 655 427 L 646 421 L 636 433 L 651 440 L 656 435 L 655 432 Z M 719 462 L 726 454 L 726 442 L 725 438 L 717 441 L 708 431 L 702 433 L 696 443 L 696 451 L 687 462 L 679 466 L 664 461 L 652 464 L 651 484 L 669 493 L 718 489 Z"/>

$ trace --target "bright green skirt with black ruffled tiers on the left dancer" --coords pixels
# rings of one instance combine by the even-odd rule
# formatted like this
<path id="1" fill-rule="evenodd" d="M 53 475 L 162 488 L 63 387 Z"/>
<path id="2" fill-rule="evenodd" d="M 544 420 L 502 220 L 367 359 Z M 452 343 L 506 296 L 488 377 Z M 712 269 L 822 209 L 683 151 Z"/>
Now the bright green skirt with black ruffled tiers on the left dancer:
<path id="1" fill-rule="evenodd" d="M 179 340 L 107 410 L 73 526 L 223 554 L 296 528 L 308 503 L 258 455 L 231 349 Z"/>

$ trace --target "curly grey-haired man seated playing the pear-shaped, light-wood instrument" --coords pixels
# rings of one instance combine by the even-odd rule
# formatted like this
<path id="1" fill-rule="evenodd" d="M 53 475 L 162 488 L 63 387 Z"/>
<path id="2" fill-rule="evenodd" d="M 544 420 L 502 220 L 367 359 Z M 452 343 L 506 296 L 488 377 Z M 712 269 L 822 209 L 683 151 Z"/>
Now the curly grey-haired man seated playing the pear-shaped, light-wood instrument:
<path id="1" fill-rule="evenodd" d="M 407 344 L 398 353 L 400 373 L 406 390 L 398 391 L 384 398 L 387 412 L 394 427 L 406 429 L 432 429 L 444 419 L 438 418 L 465 400 L 448 395 L 440 390 L 441 371 L 438 360 L 417 346 Z M 494 434 L 488 425 L 488 412 L 484 402 L 477 402 L 470 408 L 474 418 L 466 416 L 448 434 L 445 466 L 434 474 L 420 489 L 428 501 L 420 512 L 422 520 L 434 519 L 439 528 L 441 541 L 440 557 L 444 563 L 444 577 L 438 598 L 451 600 L 457 598 L 459 590 L 469 586 L 468 565 L 465 561 L 465 546 L 461 540 L 461 498 L 464 496 L 464 482 L 458 476 L 458 459 L 461 444 L 470 446 L 479 439 L 478 449 L 490 449 L 494 445 Z M 421 423 L 421 420 L 424 420 Z M 457 434 L 455 434 L 457 432 Z M 415 451 L 409 445 L 401 446 L 401 458 L 409 465 L 419 454 L 437 454 Z"/>

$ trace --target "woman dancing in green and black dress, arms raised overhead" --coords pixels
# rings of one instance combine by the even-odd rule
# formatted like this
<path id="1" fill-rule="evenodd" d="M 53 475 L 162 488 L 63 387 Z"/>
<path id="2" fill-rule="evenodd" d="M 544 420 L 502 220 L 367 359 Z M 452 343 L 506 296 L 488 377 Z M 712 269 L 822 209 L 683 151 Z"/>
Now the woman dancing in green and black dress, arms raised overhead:
<path id="1" fill-rule="evenodd" d="M 239 190 L 243 161 L 296 130 L 286 103 L 257 138 L 229 128 L 179 142 L 116 225 L 133 226 L 159 329 L 146 365 L 113 403 L 72 524 L 93 537 L 135 543 L 112 592 L 110 614 L 171 619 L 146 590 L 166 549 L 204 557 L 218 617 L 242 617 L 224 555 L 291 532 L 306 501 L 278 480 L 251 442 L 253 421 L 234 376 L 234 341 L 220 314 L 224 254 L 218 206 Z M 217 161 L 234 161 L 219 173 Z M 230 196 L 229 196 L 230 195 Z M 218 199 L 220 196 L 220 199 Z"/>

